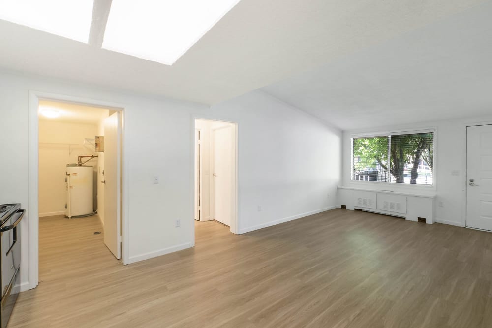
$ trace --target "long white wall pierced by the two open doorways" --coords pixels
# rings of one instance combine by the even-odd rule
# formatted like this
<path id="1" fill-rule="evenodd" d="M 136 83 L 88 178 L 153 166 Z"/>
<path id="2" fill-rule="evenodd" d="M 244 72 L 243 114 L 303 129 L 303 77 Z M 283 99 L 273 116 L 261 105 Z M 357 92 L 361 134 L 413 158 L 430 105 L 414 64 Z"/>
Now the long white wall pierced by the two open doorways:
<path id="1" fill-rule="evenodd" d="M 0 73 L 0 204 L 28 208 L 29 91 L 121 104 L 128 172 L 130 262 L 191 247 L 193 117 L 238 122 L 239 219 L 246 232 L 336 205 L 341 132 L 262 92 L 207 106 L 10 72 Z M 7 142 L 8 141 L 8 142 Z M 158 176 L 159 184 L 153 184 Z M 328 197 L 327 195 L 330 195 Z M 263 210 L 257 211 L 257 205 Z M 28 280 L 27 213 L 21 223 L 22 283 Z M 175 228 L 175 220 L 181 227 Z"/>

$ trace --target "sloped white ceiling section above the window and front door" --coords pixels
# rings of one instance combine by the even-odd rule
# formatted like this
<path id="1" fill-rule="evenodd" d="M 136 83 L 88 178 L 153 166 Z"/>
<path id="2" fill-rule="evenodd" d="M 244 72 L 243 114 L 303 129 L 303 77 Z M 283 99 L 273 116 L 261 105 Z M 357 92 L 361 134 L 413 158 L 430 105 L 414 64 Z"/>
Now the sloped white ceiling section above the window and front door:
<path id="1" fill-rule="evenodd" d="M 492 2 L 263 88 L 342 129 L 492 113 Z"/>

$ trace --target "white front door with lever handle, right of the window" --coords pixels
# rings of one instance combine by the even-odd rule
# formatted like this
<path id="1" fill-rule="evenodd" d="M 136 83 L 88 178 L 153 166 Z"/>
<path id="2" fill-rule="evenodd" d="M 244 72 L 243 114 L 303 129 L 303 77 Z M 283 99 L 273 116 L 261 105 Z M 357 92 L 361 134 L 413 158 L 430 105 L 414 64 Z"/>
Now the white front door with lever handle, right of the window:
<path id="1" fill-rule="evenodd" d="M 492 125 L 466 131 L 466 226 L 492 231 Z"/>

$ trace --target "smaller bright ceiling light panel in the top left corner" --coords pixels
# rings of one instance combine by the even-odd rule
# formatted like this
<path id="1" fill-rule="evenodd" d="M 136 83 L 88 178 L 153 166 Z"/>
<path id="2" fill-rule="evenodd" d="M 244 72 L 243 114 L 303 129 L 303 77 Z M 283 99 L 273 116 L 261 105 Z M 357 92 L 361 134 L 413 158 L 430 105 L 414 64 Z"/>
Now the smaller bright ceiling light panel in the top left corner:
<path id="1" fill-rule="evenodd" d="M 87 43 L 92 5 L 93 0 L 0 0 L 0 19 Z"/>

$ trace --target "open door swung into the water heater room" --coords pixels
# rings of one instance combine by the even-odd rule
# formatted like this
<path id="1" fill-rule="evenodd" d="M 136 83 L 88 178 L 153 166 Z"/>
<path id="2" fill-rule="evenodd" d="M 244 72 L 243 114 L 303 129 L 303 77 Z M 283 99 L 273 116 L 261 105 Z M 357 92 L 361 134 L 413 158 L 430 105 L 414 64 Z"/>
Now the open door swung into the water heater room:
<path id="1" fill-rule="evenodd" d="M 104 244 L 121 258 L 121 123 L 116 112 L 104 120 Z"/>

